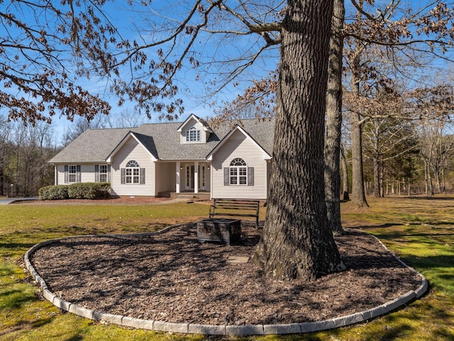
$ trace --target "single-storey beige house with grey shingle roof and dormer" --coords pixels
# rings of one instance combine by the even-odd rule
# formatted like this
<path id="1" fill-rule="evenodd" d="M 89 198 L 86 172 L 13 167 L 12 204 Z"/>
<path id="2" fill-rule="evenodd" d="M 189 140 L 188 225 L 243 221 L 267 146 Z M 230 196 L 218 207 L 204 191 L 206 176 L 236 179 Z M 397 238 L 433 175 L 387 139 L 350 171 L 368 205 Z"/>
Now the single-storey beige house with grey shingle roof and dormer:
<path id="1" fill-rule="evenodd" d="M 50 160 L 55 185 L 110 182 L 111 195 L 209 192 L 266 199 L 274 120 L 244 119 L 211 129 L 184 122 L 85 131 Z"/>

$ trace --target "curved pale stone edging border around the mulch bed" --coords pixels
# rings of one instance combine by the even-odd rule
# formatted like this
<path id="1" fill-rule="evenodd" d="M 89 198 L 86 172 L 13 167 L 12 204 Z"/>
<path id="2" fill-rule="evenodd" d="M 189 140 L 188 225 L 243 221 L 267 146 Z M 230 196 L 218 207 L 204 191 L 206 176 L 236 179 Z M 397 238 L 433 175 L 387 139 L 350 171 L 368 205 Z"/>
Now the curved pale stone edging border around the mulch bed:
<path id="1" fill-rule="evenodd" d="M 353 325 L 355 323 L 361 323 L 365 320 L 370 320 L 372 318 L 377 318 L 380 315 L 390 313 L 392 310 L 395 310 L 406 303 L 409 303 L 414 298 L 419 298 L 423 296 L 424 293 L 428 290 L 428 281 L 426 277 L 420 274 L 416 269 L 411 268 L 407 264 L 399 259 L 392 251 L 389 249 L 375 236 L 375 239 L 382 244 L 382 247 L 391 253 L 401 264 L 406 268 L 412 269 L 416 274 L 421 277 L 421 286 L 416 289 L 416 291 L 408 291 L 399 298 L 395 298 L 392 301 L 378 305 L 375 308 L 361 311 L 359 313 L 354 313 L 350 315 L 341 316 L 339 318 L 332 318 L 329 320 L 317 321 L 317 322 L 306 322 L 306 323 L 289 323 L 282 325 L 199 325 L 194 323 L 172 323 L 164 321 L 155 321 L 155 320 L 143 320 L 140 318 L 131 318 L 129 316 L 123 315 L 114 315 L 109 313 L 101 313 L 99 311 L 87 309 L 70 303 L 67 301 L 58 298 L 55 293 L 49 291 L 47 284 L 44 279 L 38 274 L 35 270 L 29 257 L 33 252 L 40 247 L 43 247 L 48 244 L 59 242 L 61 239 L 72 239 L 79 237 L 114 237 L 114 238 L 128 238 L 128 237 L 140 237 L 148 236 L 153 234 L 161 234 L 167 232 L 173 227 L 181 225 L 172 225 L 165 229 L 162 229 L 157 232 L 148 232 L 140 234 L 93 234 L 87 236 L 74 236 L 74 237 L 65 237 L 60 239 L 50 239 L 45 242 L 40 242 L 35 244 L 31 249 L 28 249 L 24 256 L 26 268 L 30 271 L 33 279 L 40 285 L 41 293 L 43 297 L 50 301 L 57 308 L 66 310 L 75 315 L 82 316 L 83 318 L 89 318 L 90 320 L 101 320 L 107 323 L 113 323 L 115 325 L 121 325 L 123 327 L 129 328 L 139 328 L 145 330 L 155 330 L 162 332 L 179 332 L 183 334 L 202 334 L 202 335 L 268 335 L 268 334 L 299 334 L 305 332 L 319 332 L 321 330 L 329 330 L 334 328 L 345 327 L 347 325 Z"/>

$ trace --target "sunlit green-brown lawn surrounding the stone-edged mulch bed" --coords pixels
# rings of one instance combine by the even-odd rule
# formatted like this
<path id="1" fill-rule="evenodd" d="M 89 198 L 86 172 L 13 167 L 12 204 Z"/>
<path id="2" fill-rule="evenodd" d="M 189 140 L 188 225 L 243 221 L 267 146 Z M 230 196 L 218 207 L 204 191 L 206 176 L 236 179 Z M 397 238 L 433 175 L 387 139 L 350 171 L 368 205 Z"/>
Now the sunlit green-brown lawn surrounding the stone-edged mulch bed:
<path id="1" fill-rule="evenodd" d="M 342 204 L 344 227 L 375 234 L 431 283 L 406 308 L 338 330 L 233 340 L 454 340 L 454 197 L 369 198 L 370 207 Z M 205 340 L 102 325 L 62 313 L 40 300 L 21 269 L 23 254 L 45 239 L 74 234 L 133 233 L 208 216 L 208 205 L 0 206 L 0 340 Z M 264 210 L 263 210 L 264 211 Z M 261 212 L 262 219 L 264 212 Z"/>

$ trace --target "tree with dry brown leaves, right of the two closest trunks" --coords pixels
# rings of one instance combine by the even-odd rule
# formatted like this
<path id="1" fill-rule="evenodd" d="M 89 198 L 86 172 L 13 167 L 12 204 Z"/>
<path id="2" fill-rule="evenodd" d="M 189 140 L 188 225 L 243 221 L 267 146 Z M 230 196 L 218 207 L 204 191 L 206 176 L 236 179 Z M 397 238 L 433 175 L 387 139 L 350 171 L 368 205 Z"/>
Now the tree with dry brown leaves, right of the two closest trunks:
<path id="1" fill-rule="evenodd" d="M 348 22 L 345 29 L 345 36 L 348 37 L 345 57 L 350 69 L 350 92 L 357 97 L 357 101 L 363 95 L 362 90 L 370 86 L 370 82 L 386 79 L 380 77 L 380 63 L 391 64 L 399 72 L 408 74 L 405 65 L 400 65 L 397 62 L 399 58 L 395 56 L 404 55 L 412 60 L 412 70 L 422 66 L 416 63 L 416 60 L 421 60 L 418 57 L 435 55 L 446 58 L 443 53 L 453 36 L 453 11 L 447 4 L 433 1 L 431 4 L 409 9 L 401 6 L 401 1 L 351 1 L 356 16 L 353 21 Z M 371 50 L 380 58 L 371 60 Z M 350 112 L 352 200 L 358 206 L 367 205 L 362 179 L 361 130 L 362 123 L 365 122 L 363 114 L 362 110 Z"/>

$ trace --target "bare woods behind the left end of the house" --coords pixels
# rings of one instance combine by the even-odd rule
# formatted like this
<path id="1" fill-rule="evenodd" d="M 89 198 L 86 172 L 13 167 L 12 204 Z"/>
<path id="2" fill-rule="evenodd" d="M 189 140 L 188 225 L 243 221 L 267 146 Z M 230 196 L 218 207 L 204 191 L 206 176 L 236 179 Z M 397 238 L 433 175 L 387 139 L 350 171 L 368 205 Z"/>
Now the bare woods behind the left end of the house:
<path id="1" fill-rule="evenodd" d="M 59 136 L 47 122 L 24 125 L 0 115 L 0 196 L 33 197 L 40 188 L 53 185 L 54 168 L 48 161 L 85 130 L 138 126 L 147 121 L 132 110 L 98 114 L 92 120 L 77 117 Z"/>

